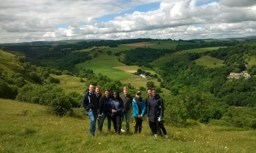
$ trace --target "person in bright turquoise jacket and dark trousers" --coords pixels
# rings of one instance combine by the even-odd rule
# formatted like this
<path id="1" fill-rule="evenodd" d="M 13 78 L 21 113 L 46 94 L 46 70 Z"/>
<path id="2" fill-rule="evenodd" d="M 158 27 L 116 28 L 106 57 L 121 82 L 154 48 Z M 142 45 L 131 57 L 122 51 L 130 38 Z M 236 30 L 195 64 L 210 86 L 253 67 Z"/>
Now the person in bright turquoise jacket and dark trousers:
<path id="1" fill-rule="evenodd" d="M 146 114 L 146 103 L 141 97 L 141 91 L 137 91 L 136 97 L 132 101 L 133 113 L 132 116 L 135 118 L 135 131 L 134 133 L 141 132 L 143 117 Z"/>

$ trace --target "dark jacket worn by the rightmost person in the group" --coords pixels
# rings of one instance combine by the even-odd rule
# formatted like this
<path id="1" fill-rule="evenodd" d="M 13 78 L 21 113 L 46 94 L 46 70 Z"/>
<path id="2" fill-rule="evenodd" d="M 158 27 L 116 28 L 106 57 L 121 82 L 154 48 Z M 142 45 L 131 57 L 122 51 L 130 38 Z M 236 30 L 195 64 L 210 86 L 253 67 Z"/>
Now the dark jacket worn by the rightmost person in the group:
<path id="1" fill-rule="evenodd" d="M 158 94 L 156 95 L 156 98 L 154 98 L 154 96 L 151 96 L 151 98 L 149 98 L 147 102 L 147 116 L 150 122 L 156 122 L 157 117 L 159 117 L 160 115 L 164 116 L 164 102 L 161 96 L 159 96 Z"/>

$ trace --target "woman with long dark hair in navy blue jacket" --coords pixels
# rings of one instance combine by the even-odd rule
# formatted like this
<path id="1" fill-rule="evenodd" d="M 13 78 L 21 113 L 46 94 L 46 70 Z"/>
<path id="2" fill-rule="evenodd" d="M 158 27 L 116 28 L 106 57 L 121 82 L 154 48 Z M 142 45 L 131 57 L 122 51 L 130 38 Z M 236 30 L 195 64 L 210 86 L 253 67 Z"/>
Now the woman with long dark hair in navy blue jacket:
<path id="1" fill-rule="evenodd" d="M 111 118 L 115 132 L 120 134 L 122 128 L 122 119 L 123 119 L 123 108 L 124 102 L 120 98 L 117 90 L 114 90 L 108 102 L 108 109 L 111 112 Z"/>

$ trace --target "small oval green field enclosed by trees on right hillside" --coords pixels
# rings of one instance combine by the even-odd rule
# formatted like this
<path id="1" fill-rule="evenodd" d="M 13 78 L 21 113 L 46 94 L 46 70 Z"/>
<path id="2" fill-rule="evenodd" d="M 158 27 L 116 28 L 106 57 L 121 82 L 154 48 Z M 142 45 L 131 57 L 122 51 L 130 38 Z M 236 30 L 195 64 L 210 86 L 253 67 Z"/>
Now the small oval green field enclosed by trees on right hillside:
<path id="1" fill-rule="evenodd" d="M 210 68 L 220 67 L 224 65 L 222 63 L 222 60 L 212 58 L 210 56 L 202 56 L 201 58 L 196 59 L 195 62 L 197 65 L 202 65 Z M 216 65 L 214 65 L 214 63 L 216 63 Z"/>

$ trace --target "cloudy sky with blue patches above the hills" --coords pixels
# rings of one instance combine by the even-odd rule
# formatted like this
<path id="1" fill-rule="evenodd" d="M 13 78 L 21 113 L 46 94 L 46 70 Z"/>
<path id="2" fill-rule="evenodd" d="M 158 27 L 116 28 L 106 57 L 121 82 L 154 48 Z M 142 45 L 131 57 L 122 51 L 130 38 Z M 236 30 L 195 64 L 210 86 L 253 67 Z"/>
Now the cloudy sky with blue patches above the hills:
<path id="1" fill-rule="evenodd" d="M 0 0 L 0 43 L 256 35 L 256 0 Z"/>

